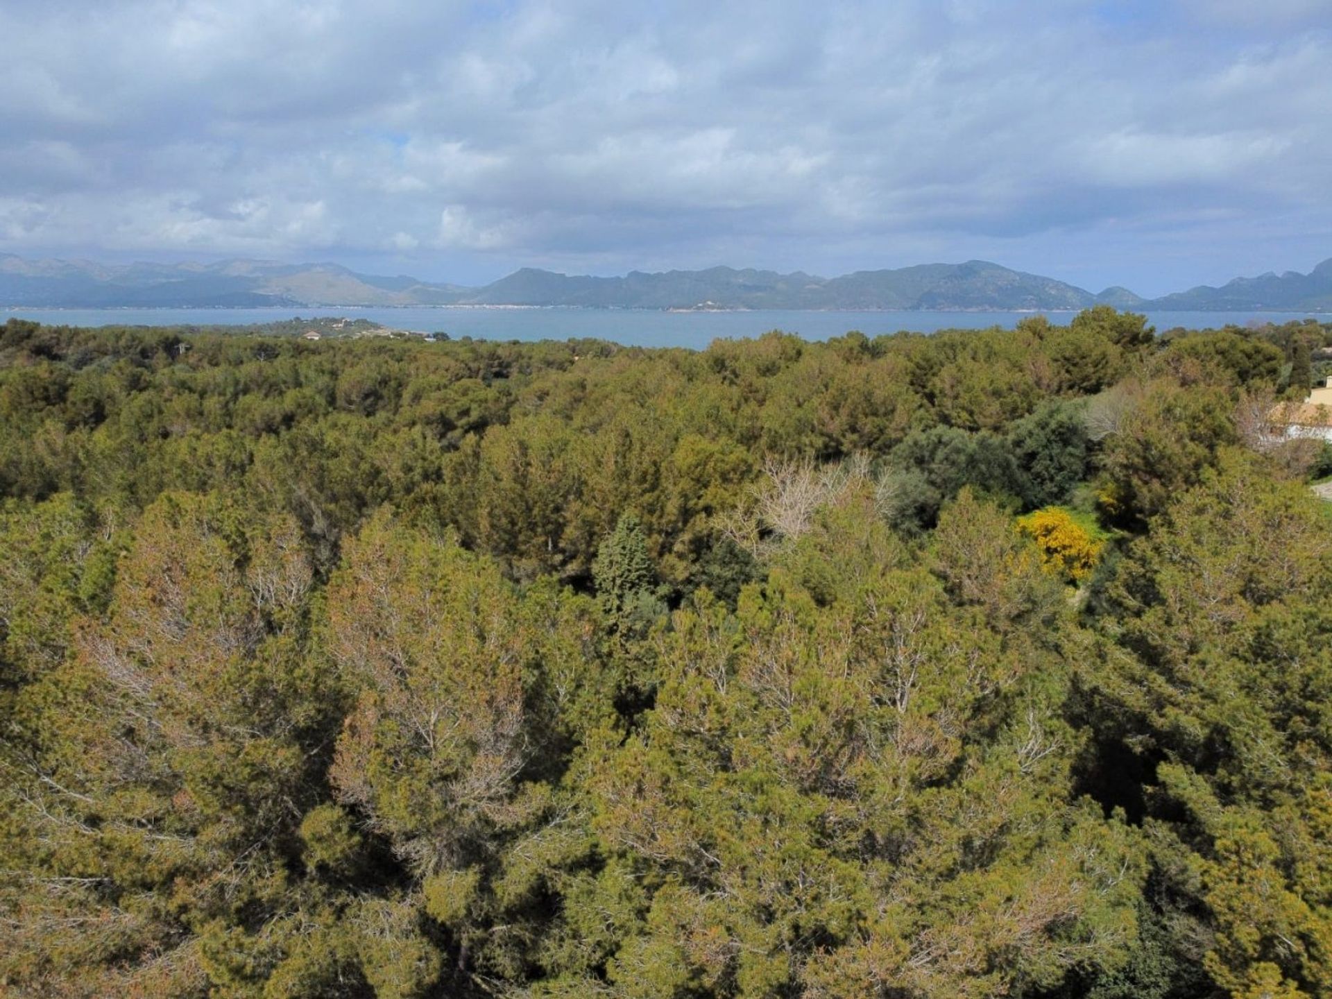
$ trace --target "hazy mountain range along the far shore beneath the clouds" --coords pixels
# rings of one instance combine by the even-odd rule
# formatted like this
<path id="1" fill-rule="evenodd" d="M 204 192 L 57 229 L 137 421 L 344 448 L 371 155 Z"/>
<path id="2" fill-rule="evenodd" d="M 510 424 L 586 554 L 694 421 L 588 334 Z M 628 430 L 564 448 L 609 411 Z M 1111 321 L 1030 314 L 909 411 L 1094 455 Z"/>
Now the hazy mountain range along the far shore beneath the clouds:
<path id="1" fill-rule="evenodd" d="M 1108 304 L 1147 310 L 1332 310 L 1332 260 L 1308 274 L 1237 277 L 1160 298 L 1127 288 L 1094 294 L 1051 277 L 971 260 L 842 277 L 795 272 L 630 272 L 577 277 L 523 268 L 481 288 L 360 274 L 337 264 L 105 265 L 81 260 L 27 260 L 0 254 L 0 306 L 27 308 L 236 308 L 530 305 L 611 309 L 1086 309 Z"/>

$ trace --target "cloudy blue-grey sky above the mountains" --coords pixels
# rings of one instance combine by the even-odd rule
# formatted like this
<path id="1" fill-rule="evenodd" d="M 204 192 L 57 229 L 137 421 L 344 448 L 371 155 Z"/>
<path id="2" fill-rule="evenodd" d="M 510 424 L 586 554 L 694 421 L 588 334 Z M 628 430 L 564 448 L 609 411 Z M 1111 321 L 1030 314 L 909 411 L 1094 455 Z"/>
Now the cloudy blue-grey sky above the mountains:
<path id="1" fill-rule="evenodd" d="M 481 284 L 1332 257 L 1332 0 L 0 0 L 0 252 Z"/>

